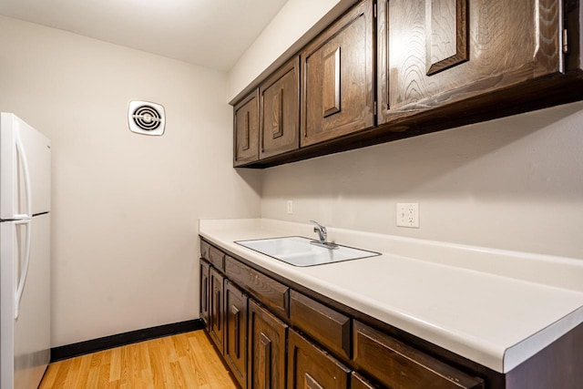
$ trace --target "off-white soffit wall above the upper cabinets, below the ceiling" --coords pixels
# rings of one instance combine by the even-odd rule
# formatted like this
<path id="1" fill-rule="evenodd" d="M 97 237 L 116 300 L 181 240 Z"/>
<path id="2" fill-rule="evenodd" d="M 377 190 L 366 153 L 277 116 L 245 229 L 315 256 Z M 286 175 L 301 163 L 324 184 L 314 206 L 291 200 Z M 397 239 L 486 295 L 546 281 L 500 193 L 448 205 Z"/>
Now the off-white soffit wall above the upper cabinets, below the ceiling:
<path id="1" fill-rule="evenodd" d="M 270 74 L 356 0 L 288 0 L 229 72 L 229 100 Z"/>

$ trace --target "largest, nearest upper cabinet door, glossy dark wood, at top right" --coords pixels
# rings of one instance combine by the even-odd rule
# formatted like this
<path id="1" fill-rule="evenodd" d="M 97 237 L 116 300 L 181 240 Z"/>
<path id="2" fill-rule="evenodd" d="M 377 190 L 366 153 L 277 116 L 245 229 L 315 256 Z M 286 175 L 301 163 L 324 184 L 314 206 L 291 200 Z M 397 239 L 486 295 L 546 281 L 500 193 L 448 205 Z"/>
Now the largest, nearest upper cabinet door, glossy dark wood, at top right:
<path id="1" fill-rule="evenodd" d="M 559 0 L 379 0 L 379 123 L 561 72 L 561 7 Z"/>

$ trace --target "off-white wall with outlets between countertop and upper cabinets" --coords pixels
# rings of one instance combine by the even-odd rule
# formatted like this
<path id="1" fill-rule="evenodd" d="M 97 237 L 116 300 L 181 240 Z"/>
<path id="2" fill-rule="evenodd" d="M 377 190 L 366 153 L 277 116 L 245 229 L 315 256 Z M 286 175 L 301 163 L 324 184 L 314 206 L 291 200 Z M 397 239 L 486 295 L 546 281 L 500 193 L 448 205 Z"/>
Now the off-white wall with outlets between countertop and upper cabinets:
<path id="1" fill-rule="evenodd" d="M 261 216 L 583 259 L 582 123 L 578 102 L 266 169 Z"/>

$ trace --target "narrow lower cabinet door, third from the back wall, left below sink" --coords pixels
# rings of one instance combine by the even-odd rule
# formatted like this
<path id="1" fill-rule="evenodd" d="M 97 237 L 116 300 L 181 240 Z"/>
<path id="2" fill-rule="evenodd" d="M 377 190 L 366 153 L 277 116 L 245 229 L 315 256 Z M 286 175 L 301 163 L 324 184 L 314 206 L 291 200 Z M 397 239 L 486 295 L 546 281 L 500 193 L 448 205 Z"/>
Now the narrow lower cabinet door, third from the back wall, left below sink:
<path id="1" fill-rule="evenodd" d="M 224 357 L 241 388 L 247 387 L 247 295 L 225 281 Z"/>

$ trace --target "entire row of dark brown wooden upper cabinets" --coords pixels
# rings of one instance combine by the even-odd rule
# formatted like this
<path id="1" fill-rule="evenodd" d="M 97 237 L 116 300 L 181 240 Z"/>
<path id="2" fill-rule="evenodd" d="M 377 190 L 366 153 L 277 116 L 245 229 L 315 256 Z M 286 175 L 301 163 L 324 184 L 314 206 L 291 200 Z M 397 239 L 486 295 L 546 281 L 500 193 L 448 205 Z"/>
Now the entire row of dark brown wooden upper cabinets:
<path id="1" fill-rule="evenodd" d="M 237 97 L 235 167 L 268 168 L 583 100 L 581 0 L 354 3 Z"/>

